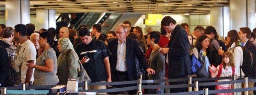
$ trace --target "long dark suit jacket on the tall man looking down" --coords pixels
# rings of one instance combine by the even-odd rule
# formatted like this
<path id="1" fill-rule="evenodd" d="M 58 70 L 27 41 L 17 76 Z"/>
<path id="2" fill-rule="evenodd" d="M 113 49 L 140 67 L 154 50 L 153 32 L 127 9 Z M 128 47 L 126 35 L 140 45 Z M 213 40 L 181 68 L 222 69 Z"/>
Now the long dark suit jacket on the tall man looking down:
<path id="1" fill-rule="evenodd" d="M 186 31 L 177 25 L 168 43 L 169 78 L 191 74 L 189 42 Z"/>

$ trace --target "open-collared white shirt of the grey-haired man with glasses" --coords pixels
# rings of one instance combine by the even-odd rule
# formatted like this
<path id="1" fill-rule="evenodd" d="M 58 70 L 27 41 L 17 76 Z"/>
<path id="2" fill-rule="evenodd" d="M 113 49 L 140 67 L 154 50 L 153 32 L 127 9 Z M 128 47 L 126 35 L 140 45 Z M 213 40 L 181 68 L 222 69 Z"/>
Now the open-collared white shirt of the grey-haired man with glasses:
<path id="1" fill-rule="evenodd" d="M 118 41 L 117 45 L 117 66 L 116 70 L 118 71 L 126 71 L 126 41 L 120 43 Z"/>

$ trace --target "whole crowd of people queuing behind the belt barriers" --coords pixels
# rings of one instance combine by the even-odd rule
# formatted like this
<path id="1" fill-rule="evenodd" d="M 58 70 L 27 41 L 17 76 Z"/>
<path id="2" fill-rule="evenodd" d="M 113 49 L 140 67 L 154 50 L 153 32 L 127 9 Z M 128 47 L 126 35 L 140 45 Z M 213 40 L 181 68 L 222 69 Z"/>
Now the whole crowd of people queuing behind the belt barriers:
<path id="1" fill-rule="evenodd" d="M 229 31 L 223 42 L 213 26 L 198 25 L 190 33 L 187 23 L 179 25 L 170 16 L 162 19 L 160 32 L 147 28 L 147 34 L 143 34 L 141 27 L 131 27 L 129 21 L 106 34 L 101 33 L 99 24 L 92 25 L 91 32 L 86 25 L 78 31 L 64 25 L 57 31 L 49 28 L 39 32 L 31 23 L 14 28 L 0 26 L 0 87 L 67 84 L 68 79 L 73 78 L 80 82 L 130 81 L 137 80 L 139 75 L 144 79 L 256 76 L 242 69 L 249 60 L 248 52 L 253 58 L 256 56 L 256 29 L 251 32 L 248 27 L 241 27 L 239 32 Z M 197 72 L 192 72 L 192 55 L 202 66 Z M 186 83 L 154 85 L 169 84 Z M 127 86 L 133 85 L 116 87 Z M 249 87 L 253 86 L 250 82 Z M 216 86 L 216 89 L 230 88 L 230 84 Z M 89 86 L 89 89 L 106 89 L 106 86 Z M 185 91 L 186 88 L 158 88 L 144 90 L 144 93 Z M 129 94 L 136 92 L 128 91 Z"/>

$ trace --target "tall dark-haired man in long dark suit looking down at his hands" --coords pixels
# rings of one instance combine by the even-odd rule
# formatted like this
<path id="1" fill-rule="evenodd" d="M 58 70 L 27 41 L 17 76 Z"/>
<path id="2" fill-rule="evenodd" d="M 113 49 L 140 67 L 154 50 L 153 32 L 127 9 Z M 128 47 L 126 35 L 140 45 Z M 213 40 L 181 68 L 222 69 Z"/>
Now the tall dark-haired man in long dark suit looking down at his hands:
<path id="1" fill-rule="evenodd" d="M 171 33 L 167 48 L 160 50 L 162 54 L 167 54 L 169 79 L 186 78 L 187 75 L 191 74 L 187 32 L 170 16 L 165 16 L 162 19 L 161 26 Z M 171 82 L 170 84 L 186 84 L 186 82 Z M 185 92 L 185 90 L 185 88 L 171 88 L 170 92 Z"/>

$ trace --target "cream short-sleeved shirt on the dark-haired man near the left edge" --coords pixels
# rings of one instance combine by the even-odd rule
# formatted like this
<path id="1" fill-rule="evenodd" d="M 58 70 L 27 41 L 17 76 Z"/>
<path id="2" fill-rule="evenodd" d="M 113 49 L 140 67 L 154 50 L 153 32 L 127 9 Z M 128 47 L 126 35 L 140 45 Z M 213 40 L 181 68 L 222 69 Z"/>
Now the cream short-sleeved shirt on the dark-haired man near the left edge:
<path id="1" fill-rule="evenodd" d="M 34 60 L 34 64 L 35 64 L 37 51 L 34 44 L 30 40 L 27 40 L 23 44 L 19 44 L 19 45 L 20 45 L 19 47 L 21 48 L 17 48 L 16 51 L 18 52 L 15 52 L 14 70 L 16 72 L 21 71 L 20 72 L 21 83 L 24 83 L 26 79 L 26 74 L 27 74 L 27 66 L 26 66 L 27 61 Z M 21 65 L 21 70 L 19 68 L 20 65 Z M 34 73 L 34 70 L 33 70 L 33 73 Z M 33 74 L 30 81 L 34 81 Z"/>

